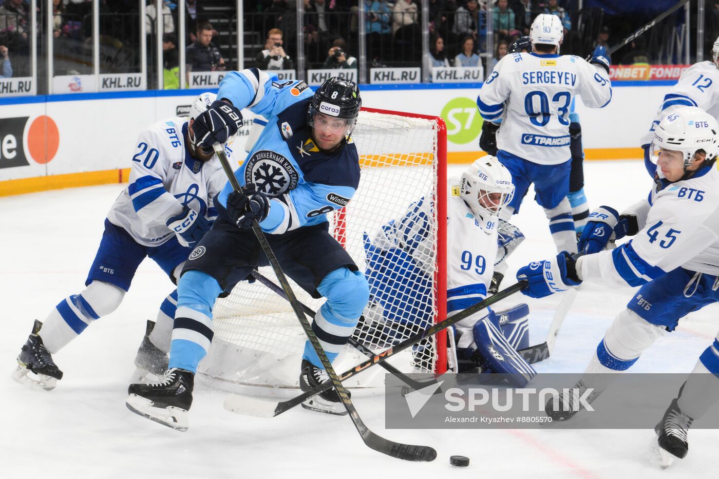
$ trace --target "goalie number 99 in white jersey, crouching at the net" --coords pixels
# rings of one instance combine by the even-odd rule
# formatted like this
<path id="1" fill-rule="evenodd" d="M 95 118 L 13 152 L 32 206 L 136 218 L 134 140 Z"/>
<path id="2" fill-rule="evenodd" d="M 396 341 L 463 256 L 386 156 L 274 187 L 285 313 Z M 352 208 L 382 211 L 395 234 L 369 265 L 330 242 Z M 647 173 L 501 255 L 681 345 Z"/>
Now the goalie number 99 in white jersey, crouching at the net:
<path id="1" fill-rule="evenodd" d="M 498 242 L 498 214 L 512 201 L 513 191 L 509 170 L 489 155 L 449 180 L 447 316 L 487 297 L 498 251 L 506 255 L 523 239 L 518 229 L 508 228 Z M 419 199 L 403 216 L 385 224 L 372 242 L 365 237 L 370 306 L 362 327 L 383 329 L 373 332 L 375 337 L 395 337 L 404 326 L 431 326 L 436 245 L 426 219 L 434 215 L 433 209 L 431 201 Z M 457 359 L 465 368 L 460 372 L 479 366 L 525 386 L 536 374 L 516 352 L 528 346 L 527 316 L 528 307 L 521 304 L 503 314 L 483 309 L 459 321 Z"/>

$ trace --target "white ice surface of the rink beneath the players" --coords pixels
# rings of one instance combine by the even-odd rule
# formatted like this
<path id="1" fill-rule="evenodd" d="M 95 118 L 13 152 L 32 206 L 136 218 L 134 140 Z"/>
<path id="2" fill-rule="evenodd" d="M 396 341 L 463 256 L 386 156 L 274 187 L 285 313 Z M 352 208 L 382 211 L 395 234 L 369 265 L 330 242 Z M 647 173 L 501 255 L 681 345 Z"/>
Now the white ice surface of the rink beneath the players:
<path id="1" fill-rule="evenodd" d="M 453 166 L 452 174 L 462 170 Z M 651 186 L 638 161 L 585 163 L 591 206 L 618 209 Z M 15 357 L 32 328 L 65 296 L 79 293 L 121 185 L 0 198 L 0 477 L 1 478 L 710 478 L 716 477 L 719 432 L 693 430 L 690 455 L 669 470 L 651 465 L 650 430 L 385 430 L 380 394 L 357 393 L 367 426 L 390 439 L 429 444 L 431 463 L 395 460 L 362 444 L 347 417 L 297 408 L 274 419 L 222 408 L 224 393 L 198 386 L 190 429 L 177 432 L 132 414 L 124 405 L 132 360 L 157 307 L 173 289 L 160 268 L 140 265 L 124 303 L 55 355 L 65 378 L 54 391 L 14 383 Z M 514 270 L 556 254 L 543 211 L 530 192 L 515 216 L 528 238 L 511 257 Z M 605 329 L 632 290 L 583 287 L 554 355 L 540 372 L 585 368 Z M 516 295 L 507 305 L 525 301 Z M 531 343 L 544 341 L 558 298 L 531 301 Z M 719 325 L 711 305 L 682 320 L 633 367 L 688 372 Z M 3 372 L 4 371 L 4 372 Z M 467 455 L 470 467 L 449 465 Z M 714 472 L 712 472 L 714 471 Z"/>

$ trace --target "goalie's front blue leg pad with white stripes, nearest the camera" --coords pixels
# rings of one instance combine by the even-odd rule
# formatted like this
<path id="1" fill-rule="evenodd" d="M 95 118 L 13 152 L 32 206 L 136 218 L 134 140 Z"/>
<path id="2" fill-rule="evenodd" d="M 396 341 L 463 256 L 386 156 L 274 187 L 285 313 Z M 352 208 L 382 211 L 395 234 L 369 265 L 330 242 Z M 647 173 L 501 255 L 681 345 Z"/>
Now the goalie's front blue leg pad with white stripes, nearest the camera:
<path id="1" fill-rule="evenodd" d="M 518 388 L 523 388 L 536 376 L 534 368 L 516 352 L 489 318 L 477 321 L 472 333 L 485 370 L 506 374 L 509 382 Z"/>

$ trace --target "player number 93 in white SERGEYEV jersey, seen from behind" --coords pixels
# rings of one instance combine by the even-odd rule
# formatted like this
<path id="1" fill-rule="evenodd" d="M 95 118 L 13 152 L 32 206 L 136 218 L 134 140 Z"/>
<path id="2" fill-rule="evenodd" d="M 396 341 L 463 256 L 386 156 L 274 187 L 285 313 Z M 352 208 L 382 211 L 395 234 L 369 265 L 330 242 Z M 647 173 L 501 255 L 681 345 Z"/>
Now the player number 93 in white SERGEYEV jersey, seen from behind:
<path id="1" fill-rule="evenodd" d="M 564 33 L 555 15 L 536 17 L 529 36 L 533 51 L 502 58 L 477 96 L 485 121 L 505 117 L 497 132 L 497 158 L 512 173 L 516 191 L 501 217 L 509 219 L 519 212 L 533 183 L 557 251 L 577 252 L 572 206 L 567 199 L 572 165 L 569 109 L 577 95 L 590 108 L 609 103 L 609 60 L 604 47 L 597 47 L 589 62 L 559 55 Z M 498 265 L 500 273 L 505 268 Z"/>

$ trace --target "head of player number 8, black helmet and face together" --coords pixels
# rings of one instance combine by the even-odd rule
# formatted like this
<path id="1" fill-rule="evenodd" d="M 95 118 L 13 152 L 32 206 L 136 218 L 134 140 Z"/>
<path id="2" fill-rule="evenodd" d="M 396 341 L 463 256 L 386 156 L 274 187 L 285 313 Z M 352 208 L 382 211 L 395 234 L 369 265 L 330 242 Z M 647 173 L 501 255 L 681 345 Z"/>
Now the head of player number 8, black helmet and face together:
<path id="1" fill-rule="evenodd" d="M 333 76 L 315 91 L 307 109 L 307 124 L 332 134 L 342 132 L 348 136 L 354 129 L 360 108 L 362 99 L 359 98 L 357 83 Z M 337 119 L 343 121 L 337 122 Z"/>

